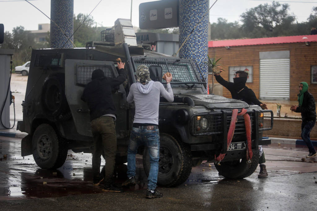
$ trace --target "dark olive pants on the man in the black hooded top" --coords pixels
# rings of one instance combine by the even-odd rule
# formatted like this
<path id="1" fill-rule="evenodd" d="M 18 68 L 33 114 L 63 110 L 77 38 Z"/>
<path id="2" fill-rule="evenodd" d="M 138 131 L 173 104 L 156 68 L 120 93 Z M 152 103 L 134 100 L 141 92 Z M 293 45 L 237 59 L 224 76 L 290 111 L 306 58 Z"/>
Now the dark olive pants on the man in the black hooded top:
<path id="1" fill-rule="evenodd" d="M 114 119 L 111 116 L 101 116 L 91 121 L 91 131 L 94 138 L 93 174 L 98 178 L 100 174 L 101 153 L 105 154 L 105 184 L 112 183 L 115 156 L 117 153 L 117 137 Z"/>

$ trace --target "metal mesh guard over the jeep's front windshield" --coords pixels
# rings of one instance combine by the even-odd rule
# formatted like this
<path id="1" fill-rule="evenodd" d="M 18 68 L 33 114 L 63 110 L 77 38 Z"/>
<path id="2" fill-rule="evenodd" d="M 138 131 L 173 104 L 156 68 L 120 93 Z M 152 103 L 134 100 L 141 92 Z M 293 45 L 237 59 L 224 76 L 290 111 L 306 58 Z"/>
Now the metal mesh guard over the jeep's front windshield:
<path id="1" fill-rule="evenodd" d="M 170 72 L 173 76 L 173 82 L 203 82 L 195 60 L 143 57 L 133 57 L 132 60 L 135 70 L 139 65 L 146 65 L 148 68 L 152 65 L 161 66 L 162 76 L 164 73 Z"/>

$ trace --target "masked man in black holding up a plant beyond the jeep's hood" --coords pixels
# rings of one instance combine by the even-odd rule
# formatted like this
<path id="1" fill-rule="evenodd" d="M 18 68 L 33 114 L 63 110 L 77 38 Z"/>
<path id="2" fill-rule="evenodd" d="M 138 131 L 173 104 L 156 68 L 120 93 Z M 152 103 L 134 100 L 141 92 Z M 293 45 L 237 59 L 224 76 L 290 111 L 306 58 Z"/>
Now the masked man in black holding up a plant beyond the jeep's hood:
<path id="1" fill-rule="evenodd" d="M 220 70 L 220 73 L 223 70 Z M 245 83 L 247 82 L 248 79 L 248 73 L 245 71 L 236 71 L 235 78 L 233 78 L 233 83 L 228 82 L 224 80 L 219 74 L 215 74 L 215 78 L 217 82 L 224 87 L 226 87 L 230 93 L 233 99 L 236 100 L 242 100 L 249 105 L 258 105 L 262 109 L 268 109 L 265 103 L 260 102 L 257 98 L 256 95 L 254 94 L 253 90 L 249 89 Z M 260 173 L 258 175 L 259 178 L 267 177 L 268 172 L 266 170 L 265 166 L 265 156 L 264 152 L 262 149 L 262 146 L 259 146 L 259 151 L 260 151 L 260 159 L 259 159 L 259 164 L 260 164 Z"/>

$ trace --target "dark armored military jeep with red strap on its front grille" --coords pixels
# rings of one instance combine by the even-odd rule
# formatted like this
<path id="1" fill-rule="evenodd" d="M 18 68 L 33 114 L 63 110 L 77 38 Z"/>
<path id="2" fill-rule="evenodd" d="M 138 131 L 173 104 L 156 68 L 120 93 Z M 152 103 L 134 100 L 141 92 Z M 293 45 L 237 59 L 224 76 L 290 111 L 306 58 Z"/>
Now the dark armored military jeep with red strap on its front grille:
<path id="1" fill-rule="evenodd" d="M 122 21 L 122 19 L 120 20 Z M 116 24 L 117 27 L 127 24 Z M 119 30 L 119 29 L 115 29 Z M 272 129 L 273 113 L 259 106 L 206 93 L 206 82 L 193 59 L 181 59 L 128 46 L 123 41 L 87 43 L 86 48 L 32 50 L 29 79 L 23 102 L 23 121 L 17 129 L 29 133 L 21 144 L 22 156 L 33 154 L 36 164 L 44 169 L 61 167 L 67 152 L 91 152 L 93 147 L 90 116 L 87 104 L 80 97 L 95 69 L 108 77 L 116 77 L 116 59 L 126 62 L 126 82 L 113 90 L 117 109 L 116 163 L 126 162 L 127 145 L 133 124 L 134 104 L 126 102 L 129 87 L 135 83 L 139 65 L 149 67 L 151 78 L 162 82 L 165 72 L 171 72 L 174 102 L 161 98 L 159 105 L 160 160 L 158 184 L 177 186 L 189 177 L 191 168 L 215 162 L 225 153 L 221 175 L 244 178 L 257 167 L 258 146 L 270 144 L 262 139 L 265 130 Z M 253 157 L 246 160 L 246 129 L 243 116 L 237 117 L 234 136 L 227 147 L 232 109 L 247 109 L 251 119 Z M 143 166 L 149 172 L 146 149 Z"/>

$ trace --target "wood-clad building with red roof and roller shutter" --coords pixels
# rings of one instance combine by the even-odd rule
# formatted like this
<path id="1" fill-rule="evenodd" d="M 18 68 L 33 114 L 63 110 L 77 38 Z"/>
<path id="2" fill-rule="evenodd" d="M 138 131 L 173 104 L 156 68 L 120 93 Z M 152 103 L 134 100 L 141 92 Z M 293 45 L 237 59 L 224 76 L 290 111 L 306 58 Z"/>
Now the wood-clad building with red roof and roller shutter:
<path id="1" fill-rule="evenodd" d="M 217 40 L 209 41 L 208 47 L 210 58 L 221 58 L 218 63 L 225 70 L 221 76 L 233 81 L 235 71 L 248 71 L 246 85 L 263 102 L 296 101 L 302 81 L 308 83 L 308 91 L 317 98 L 317 35 Z M 209 87 L 211 81 L 210 74 Z M 226 88 L 222 90 L 223 96 L 231 97 Z"/>

